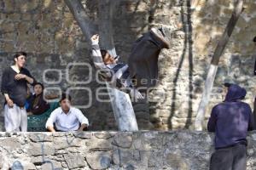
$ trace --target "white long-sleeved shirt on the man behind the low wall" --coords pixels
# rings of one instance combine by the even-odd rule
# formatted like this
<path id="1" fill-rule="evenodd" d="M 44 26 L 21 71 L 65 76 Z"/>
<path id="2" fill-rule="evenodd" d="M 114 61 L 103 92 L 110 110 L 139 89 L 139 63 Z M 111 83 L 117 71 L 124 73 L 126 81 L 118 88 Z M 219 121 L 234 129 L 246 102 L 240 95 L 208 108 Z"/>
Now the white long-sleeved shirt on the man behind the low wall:
<path id="1" fill-rule="evenodd" d="M 45 127 L 55 127 L 59 131 L 75 131 L 79 129 L 79 123 L 89 125 L 88 119 L 83 115 L 82 111 L 77 108 L 70 107 L 67 114 L 62 111 L 61 107 L 51 112 Z"/>

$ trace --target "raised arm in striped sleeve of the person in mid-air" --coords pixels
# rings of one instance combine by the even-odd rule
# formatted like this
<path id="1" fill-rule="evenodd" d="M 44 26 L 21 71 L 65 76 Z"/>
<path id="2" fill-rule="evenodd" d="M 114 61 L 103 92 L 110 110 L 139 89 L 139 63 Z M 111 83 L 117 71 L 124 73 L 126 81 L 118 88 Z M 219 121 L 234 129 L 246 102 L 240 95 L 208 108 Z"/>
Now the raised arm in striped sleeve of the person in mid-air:
<path id="1" fill-rule="evenodd" d="M 102 54 L 99 46 L 99 35 L 93 35 L 90 38 L 91 41 L 91 56 L 96 69 L 100 71 L 100 74 L 104 78 L 111 78 L 112 71 L 104 64 L 102 60 Z"/>

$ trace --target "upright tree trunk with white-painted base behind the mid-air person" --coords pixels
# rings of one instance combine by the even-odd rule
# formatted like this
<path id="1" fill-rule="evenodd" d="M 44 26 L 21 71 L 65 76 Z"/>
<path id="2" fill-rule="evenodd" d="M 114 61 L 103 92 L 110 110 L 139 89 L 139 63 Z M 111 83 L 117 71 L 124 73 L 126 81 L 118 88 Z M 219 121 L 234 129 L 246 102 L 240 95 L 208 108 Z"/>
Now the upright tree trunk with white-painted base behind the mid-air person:
<path id="1" fill-rule="evenodd" d="M 101 23 L 99 30 L 101 47 L 107 49 L 111 55 L 116 56 L 116 51 L 113 45 L 113 5 L 111 0 L 99 1 L 99 21 Z M 113 114 L 119 130 L 137 131 L 137 120 L 129 95 L 116 88 L 111 88 L 108 82 L 106 82 L 106 87 L 108 88 Z"/>

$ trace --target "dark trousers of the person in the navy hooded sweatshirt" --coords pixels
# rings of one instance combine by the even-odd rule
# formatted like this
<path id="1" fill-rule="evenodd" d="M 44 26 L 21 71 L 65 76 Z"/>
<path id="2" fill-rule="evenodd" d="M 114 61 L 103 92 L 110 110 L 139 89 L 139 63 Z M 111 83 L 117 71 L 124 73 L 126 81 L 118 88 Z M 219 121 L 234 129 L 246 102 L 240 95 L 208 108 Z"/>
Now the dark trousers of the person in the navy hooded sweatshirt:
<path id="1" fill-rule="evenodd" d="M 247 146 L 236 144 L 224 149 L 215 150 L 210 162 L 210 170 L 246 170 Z"/>

